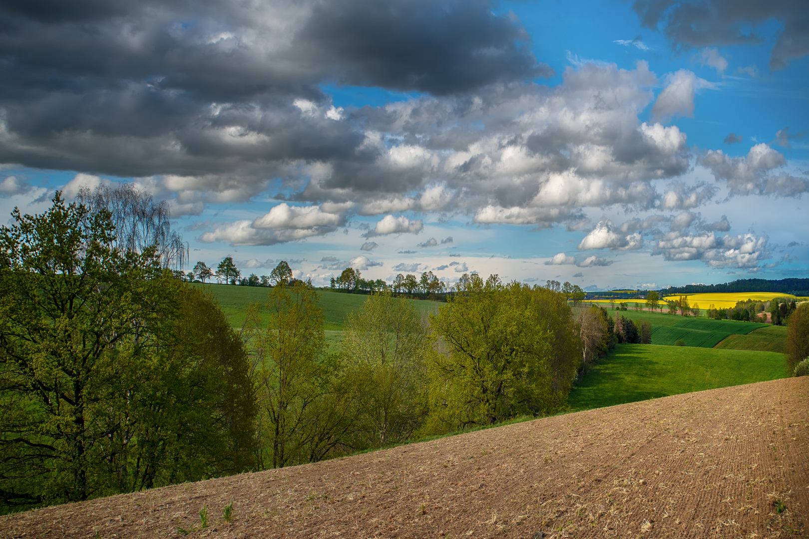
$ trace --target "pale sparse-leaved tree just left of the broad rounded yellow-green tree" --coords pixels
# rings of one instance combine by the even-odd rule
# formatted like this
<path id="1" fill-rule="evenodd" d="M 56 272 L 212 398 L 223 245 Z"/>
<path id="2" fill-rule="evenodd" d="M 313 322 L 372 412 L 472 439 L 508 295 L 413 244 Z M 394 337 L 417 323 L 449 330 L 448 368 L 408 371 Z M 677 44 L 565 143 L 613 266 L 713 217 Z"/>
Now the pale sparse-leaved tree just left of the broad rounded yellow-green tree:
<path id="1" fill-rule="evenodd" d="M 424 415 L 427 328 L 413 303 L 376 293 L 345 320 L 341 352 L 362 381 L 366 447 L 407 440 Z"/>

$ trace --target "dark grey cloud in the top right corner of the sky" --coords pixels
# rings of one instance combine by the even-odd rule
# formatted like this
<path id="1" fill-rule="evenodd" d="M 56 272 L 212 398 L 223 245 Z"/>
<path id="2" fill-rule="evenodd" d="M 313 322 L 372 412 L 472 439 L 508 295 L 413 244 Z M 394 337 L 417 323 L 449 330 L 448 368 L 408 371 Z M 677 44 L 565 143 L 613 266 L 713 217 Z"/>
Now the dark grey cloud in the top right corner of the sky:
<path id="1" fill-rule="evenodd" d="M 635 0 L 633 9 L 643 26 L 663 30 L 673 48 L 758 44 L 756 32 L 776 19 L 783 30 L 770 51 L 769 68 L 783 69 L 809 54 L 809 2 L 805 0 Z M 662 26 L 661 26 L 662 25 Z"/>

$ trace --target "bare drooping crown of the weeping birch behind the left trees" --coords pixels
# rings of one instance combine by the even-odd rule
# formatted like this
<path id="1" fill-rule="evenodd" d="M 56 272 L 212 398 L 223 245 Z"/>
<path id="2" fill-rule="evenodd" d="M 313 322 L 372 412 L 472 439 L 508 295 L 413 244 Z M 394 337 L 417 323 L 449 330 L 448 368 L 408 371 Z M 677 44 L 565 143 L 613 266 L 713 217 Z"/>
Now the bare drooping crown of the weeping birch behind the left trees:
<path id="1" fill-rule="evenodd" d="M 180 269 L 188 259 L 188 244 L 172 230 L 171 213 L 165 200 L 155 202 L 147 192 L 131 183 L 118 187 L 99 185 L 91 190 L 82 187 L 76 195 L 94 215 L 109 213 L 115 235 L 115 248 L 144 253 L 151 249 L 162 267 Z"/>

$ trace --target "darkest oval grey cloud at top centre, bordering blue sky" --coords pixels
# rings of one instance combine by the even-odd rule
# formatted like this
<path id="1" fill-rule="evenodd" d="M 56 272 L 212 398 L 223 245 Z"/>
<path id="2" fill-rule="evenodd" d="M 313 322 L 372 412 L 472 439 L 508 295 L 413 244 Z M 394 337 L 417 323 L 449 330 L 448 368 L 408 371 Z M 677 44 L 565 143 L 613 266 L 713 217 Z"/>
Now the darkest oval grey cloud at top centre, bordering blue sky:
<path id="1" fill-rule="evenodd" d="M 553 75 L 530 36 L 489 0 L 318 3 L 294 49 L 337 82 L 446 95 L 491 82 Z"/>

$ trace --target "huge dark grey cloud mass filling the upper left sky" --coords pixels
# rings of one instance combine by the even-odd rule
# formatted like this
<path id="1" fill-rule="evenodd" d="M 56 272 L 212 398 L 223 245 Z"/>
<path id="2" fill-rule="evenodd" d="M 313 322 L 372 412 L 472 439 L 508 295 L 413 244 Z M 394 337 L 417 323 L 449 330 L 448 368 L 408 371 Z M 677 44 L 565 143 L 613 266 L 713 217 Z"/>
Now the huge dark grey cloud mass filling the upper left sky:
<path id="1" fill-rule="evenodd" d="M 324 117 L 320 83 L 447 95 L 552 74 L 519 23 L 492 8 L 484 0 L 2 2 L 0 162 L 260 178 L 283 175 L 295 159 L 336 160 L 334 184 L 346 184 L 353 162 L 367 159 L 357 151 L 363 136 L 341 112 Z"/>

